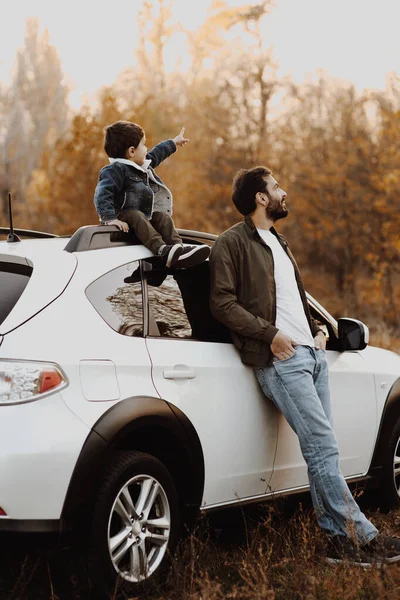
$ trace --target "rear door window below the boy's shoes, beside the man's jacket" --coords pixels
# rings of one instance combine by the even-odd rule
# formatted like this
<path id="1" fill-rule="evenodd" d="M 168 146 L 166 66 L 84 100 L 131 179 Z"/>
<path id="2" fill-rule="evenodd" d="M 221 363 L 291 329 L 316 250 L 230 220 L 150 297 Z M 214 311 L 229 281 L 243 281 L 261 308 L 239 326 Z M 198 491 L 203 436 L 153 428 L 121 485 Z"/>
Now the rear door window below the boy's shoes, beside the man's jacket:
<path id="1" fill-rule="evenodd" d="M 149 335 L 231 343 L 228 330 L 211 315 L 208 262 L 146 279 Z"/>

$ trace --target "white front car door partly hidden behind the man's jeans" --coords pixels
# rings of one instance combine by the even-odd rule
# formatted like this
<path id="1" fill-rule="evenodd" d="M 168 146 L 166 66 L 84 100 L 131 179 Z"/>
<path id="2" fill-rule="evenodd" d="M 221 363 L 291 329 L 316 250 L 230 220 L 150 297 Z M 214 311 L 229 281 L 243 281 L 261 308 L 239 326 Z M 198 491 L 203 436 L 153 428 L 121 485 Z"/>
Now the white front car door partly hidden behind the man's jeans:
<path id="1" fill-rule="evenodd" d="M 308 298 L 313 317 L 321 323 L 327 335 L 333 428 L 339 445 L 341 470 L 345 477 L 356 477 L 368 470 L 376 435 L 374 376 L 362 351 L 335 350 L 335 319 L 311 296 Z M 307 484 L 307 468 L 297 435 L 279 414 L 278 447 L 270 486 L 279 491 Z"/>

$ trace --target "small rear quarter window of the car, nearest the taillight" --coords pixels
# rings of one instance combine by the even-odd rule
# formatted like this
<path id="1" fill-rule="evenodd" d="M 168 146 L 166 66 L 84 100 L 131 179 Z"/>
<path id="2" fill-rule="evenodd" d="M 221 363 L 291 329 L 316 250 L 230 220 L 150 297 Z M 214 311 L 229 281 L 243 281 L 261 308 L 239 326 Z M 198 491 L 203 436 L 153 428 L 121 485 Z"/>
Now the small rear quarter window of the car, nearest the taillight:
<path id="1" fill-rule="evenodd" d="M 100 316 L 122 335 L 143 336 L 143 302 L 139 261 L 105 273 L 86 288 Z"/>

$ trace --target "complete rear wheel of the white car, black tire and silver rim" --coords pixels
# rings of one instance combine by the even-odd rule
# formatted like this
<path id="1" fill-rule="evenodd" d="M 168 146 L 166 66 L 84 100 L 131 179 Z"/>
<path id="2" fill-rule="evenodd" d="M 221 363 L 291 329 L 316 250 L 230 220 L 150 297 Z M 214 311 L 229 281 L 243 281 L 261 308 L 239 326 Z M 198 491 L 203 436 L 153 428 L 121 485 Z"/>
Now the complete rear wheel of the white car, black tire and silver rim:
<path id="1" fill-rule="evenodd" d="M 146 495 L 148 505 L 141 509 Z M 135 509 L 142 515 L 134 516 Z M 109 598 L 116 588 L 135 595 L 155 583 L 168 567 L 179 535 L 178 495 L 169 471 L 150 454 L 116 454 L 94 496 L 91 517 L 87 561 L 96 597 Z"/>

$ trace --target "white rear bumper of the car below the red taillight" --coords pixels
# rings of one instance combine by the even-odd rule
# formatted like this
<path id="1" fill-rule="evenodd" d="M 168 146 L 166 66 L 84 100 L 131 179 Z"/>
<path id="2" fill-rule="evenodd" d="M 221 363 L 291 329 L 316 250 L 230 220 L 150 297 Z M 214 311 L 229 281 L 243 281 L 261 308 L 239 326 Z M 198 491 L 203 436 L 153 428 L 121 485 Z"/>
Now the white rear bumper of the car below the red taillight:
<path id="1" fill-rule="evenodd" d="M 54 531 L 88 434 L 59 393 L 0 406 L 0 530 Z"/>

